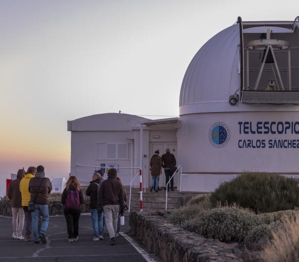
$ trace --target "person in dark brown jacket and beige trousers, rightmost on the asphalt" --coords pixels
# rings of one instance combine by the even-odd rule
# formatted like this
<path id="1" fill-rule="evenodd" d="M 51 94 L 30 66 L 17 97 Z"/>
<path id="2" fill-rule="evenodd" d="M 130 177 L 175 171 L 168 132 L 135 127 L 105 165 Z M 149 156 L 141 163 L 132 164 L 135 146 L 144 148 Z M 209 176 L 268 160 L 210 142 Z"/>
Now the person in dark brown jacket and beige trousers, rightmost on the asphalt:
<path id="1" fill-rule="evenodd" d="M 110 245 L 115 245 L 119 213 L 124 210 L 123 188 L 117 178 L 117 170 L 111 168 L 108 171 L 108 179 L 101 184 L 98 197 L 97 208 L 99 212 L 104 210 L 105 224 L 110 236 Z"/>

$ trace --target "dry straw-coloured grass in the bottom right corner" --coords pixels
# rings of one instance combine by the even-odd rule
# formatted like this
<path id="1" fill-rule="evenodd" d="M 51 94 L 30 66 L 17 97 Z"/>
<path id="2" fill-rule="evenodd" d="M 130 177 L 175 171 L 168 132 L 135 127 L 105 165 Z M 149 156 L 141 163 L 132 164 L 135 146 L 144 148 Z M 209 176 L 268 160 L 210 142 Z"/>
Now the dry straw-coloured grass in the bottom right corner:
<path id="1" fill-rule="evenodd" d="M 272 237 L 261 254 L 265 262 L 299 261 L 299 219 L 284 218 L 283 226 Z"/>

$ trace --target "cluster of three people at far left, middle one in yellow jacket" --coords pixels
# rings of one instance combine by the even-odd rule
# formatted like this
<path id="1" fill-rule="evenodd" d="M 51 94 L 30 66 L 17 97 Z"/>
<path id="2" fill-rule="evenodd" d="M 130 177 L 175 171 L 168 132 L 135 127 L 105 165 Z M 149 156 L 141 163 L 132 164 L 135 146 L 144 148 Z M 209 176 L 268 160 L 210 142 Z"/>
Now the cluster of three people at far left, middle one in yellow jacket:
<path id="1" fill-rule="evenodd" d="M 49 224 L 49 194 L 52 184 L 45 177 L 43 166 L 29 167 L 27 172 L 20 169 L 17 179 L 8 187 L 8 197 L 12 209 L 12 237 L 16 239 L 32 240 L 38 245 L 39 241 L 47 243 L 45 233 Z M 41 223 L 39 220 L 41 218 Z M 25 236 L 23 228 L 25 226 Z"/>

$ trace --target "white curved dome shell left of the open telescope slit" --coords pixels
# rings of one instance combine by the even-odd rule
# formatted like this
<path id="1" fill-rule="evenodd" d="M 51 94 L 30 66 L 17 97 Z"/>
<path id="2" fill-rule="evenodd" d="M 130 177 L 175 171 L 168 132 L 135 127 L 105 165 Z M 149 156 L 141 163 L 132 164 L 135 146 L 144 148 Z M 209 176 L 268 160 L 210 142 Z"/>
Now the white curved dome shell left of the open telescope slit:
<path id="1" fill-rule="evenodd" d="M 200 112 L 215 103 L 228 104 L 230 94 L 239 88 L 239 44 L 236 24 L 217 33 L 196 53 L 181 85 L 180 115 L 188 114 L 191 107 Z"/>

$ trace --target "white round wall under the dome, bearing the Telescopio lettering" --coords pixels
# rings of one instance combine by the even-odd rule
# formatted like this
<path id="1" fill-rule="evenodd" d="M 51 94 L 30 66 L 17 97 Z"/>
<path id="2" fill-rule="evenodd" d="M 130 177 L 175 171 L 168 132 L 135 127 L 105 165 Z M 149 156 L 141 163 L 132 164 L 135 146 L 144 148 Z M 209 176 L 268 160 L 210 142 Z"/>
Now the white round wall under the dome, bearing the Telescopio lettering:
<path id="1" fill-rule="evenodd" d="M 288 122 L 294 124 L 299 120 L 298 116 L 298 112 L 229 112 L 181 116 L 178 130 L 179 159 L 183 166 L 181 189 L 212 191 L 220 181 L 243 171 L 299 174 L 299 134 L 296 134 L 299 133 L 299 122 L 296 124 L 296 133 L 294 131 L 293 134 L 290 129 L 278 134 L 275 124 L 272 124 L 275 134 L 270 131 L 265 134 L 267 128 L 263 127 L 271 122 L 282 122 L 284 126 L 288 126 Z M 212 146 L 209 141 L 209 130 L 216 122 L 225 123 L 230 130 L 230 140 L 221 148 Z M 245 124 L 245 133 L 244 125 L 239 122 L 248 122 Z M 262 125 L 259 132 L 263 134 L 257 133 L 257 124 L 259 127 Z M 279 124 L 279 132 L 281 128 L 282 125 Z M 277 148 L 278 141 L 284 143 L 282 148 Z M 295 148 L 286 148 L 290 141 Z M 265 146 L 259 146 L 260 143 Z M 246 148 L 243 148 L 245 144 Z M 255 148 L 248 147 L 248 144 Z"/>

